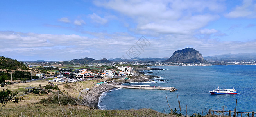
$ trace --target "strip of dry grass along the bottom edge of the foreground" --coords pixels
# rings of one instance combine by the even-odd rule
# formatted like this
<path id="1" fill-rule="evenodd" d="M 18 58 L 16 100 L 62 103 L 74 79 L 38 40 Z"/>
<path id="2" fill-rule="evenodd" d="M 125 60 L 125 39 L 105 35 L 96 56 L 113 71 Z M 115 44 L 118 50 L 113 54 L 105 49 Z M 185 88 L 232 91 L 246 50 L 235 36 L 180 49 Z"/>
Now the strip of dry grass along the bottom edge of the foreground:
<path id="1" fill-rule="evenodd" d="M 68 117 L 71 117 L 68 106 L 64 106 Z M 70 106 L 73 117 L 165 117 L 164 113 L 159 113 L 151 109 L 139 110 L 90 110 L 85 106 Z M 63 117 L 59 105 L 31 104 L 4 108 L 1 117 Z M 177 117 L 166 115 L 166 117 Z"/>

